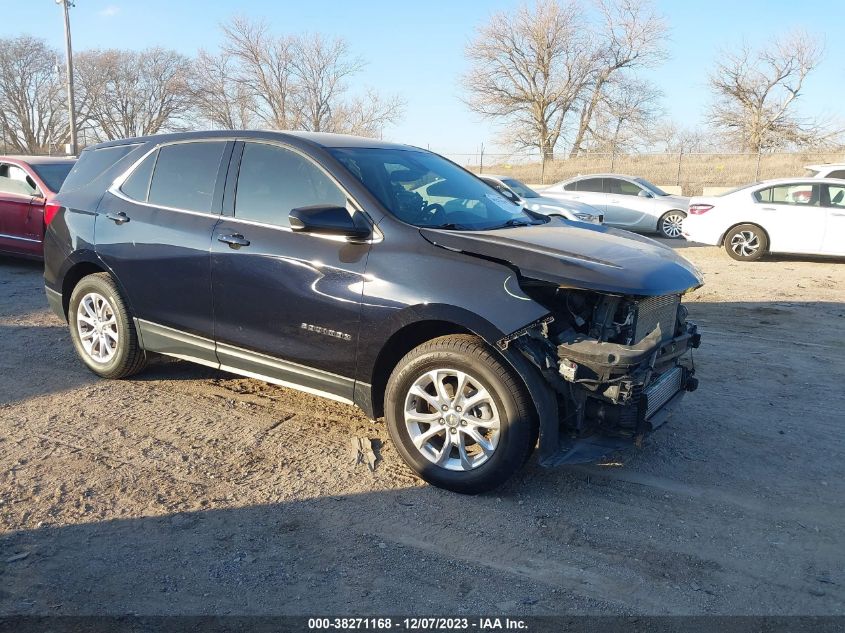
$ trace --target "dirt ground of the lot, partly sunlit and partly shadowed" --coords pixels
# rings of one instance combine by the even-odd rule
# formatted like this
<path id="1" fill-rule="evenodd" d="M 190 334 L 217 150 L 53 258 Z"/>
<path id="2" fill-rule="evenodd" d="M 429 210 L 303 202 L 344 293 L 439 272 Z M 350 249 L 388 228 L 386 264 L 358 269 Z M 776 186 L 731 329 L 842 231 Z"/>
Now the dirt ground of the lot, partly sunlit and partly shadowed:
<path id="1" fill-rule="evenodd" d="M 351 406 L 97 379 L 40 266 L 0 259 L 0 614 L 845 613 L 845 262 L 676 246 L 706 277 L 683 415 L 474 498 Z"/>

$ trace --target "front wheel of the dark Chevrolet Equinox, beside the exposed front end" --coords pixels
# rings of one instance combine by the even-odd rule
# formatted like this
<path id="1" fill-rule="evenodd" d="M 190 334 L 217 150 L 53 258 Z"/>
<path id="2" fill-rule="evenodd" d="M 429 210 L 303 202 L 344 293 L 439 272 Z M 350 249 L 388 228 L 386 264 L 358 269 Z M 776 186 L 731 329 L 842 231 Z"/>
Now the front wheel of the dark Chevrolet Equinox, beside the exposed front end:
<path id="1" fill-rule="evenodd" d="M 385 417 L 393 444 L 417 475 L 463 494 L 504 483 L 537 441 L 524 385 L 475 336 L 436 338 L 402 358 L 387 383 Z"/>

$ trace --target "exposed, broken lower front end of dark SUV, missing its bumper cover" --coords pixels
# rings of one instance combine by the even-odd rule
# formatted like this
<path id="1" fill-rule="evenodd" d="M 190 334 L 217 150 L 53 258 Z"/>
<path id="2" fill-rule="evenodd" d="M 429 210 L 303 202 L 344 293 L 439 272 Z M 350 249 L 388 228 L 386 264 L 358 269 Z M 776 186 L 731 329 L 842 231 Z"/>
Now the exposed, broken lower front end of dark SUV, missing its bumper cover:
<path id="1" fill-rule="evenodd" d="M 500 342 L 538 369 L 542 378 L 536 382 L 545 383 L 529 385 L 540 415 L 543 466 L 592 462 L 638 444 L 698 387 L 691 350 L 701 336 L 694 323 L 679 323 L 668 339 L 655 329 L 635 345 L 587 336 L 554 345 L 548 323 Z"/>

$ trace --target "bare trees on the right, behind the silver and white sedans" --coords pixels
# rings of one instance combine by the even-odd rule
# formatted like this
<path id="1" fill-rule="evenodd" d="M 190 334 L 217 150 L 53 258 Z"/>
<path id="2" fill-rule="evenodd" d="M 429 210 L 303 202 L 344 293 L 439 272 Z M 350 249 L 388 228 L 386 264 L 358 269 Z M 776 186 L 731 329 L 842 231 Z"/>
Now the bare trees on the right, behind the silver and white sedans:
<path id="1" fill-rule="evenodd" d="M 670 29 L 649 0 L 535 0 L 500 12 L 467 46 L 465 102 L 505 142 L 550 159 L 563 149 L 765 152 L 842 147 L 841 129 L 796 113 L 819 38 L 794 31 L 717 53 L 703 126 L 679 126 L 644 71 L 667 59 Z M 697 98 L 698 95 L 691 95 Z"/>

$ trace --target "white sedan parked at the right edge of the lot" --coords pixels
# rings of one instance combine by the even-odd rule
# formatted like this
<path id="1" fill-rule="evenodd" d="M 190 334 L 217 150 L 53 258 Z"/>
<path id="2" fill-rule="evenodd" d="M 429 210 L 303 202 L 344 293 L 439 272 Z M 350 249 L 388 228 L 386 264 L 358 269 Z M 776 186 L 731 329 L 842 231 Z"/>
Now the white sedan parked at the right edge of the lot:
<path id="1" fill-rule="evenodd" d="M 796 190 L 809 195 L 795 196 Z M 768 180 L 692 198 L 682 233 L 693 242 L 723 245 L 740 261 L 766 253 L 845 255 L 845 180 Z"/>

